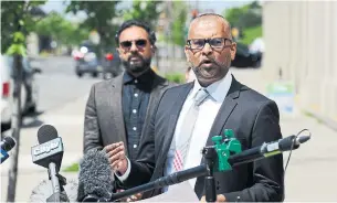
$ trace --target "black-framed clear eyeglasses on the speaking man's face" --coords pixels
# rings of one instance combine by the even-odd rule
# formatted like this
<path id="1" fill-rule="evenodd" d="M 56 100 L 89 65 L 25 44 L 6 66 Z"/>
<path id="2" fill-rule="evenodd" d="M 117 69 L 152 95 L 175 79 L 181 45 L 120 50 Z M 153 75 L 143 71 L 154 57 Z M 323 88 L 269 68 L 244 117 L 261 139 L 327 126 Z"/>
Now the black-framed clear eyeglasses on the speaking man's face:
<path id="1" fill-rule="evenodd" d="M 232 40 L 225 38 L 190 39 L 187 40 L 187 45 L 191 50 L 202 50 L 206 43 L 209 43 L 213 50 L 222 51 L 225 47 L 225 41 L 232 43 Z"/>

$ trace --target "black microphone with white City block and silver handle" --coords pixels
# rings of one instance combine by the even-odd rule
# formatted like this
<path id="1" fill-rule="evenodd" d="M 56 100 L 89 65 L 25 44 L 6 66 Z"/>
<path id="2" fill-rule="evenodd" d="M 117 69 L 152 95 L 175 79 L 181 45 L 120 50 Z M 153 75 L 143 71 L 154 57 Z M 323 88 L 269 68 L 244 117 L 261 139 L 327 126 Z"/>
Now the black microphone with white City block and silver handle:
<path id="1" fill-rule="evenodd" d="M 40 145 L 31 148 L 32 161 L 48 169 L 53 191 L 48 201 L 60 202 L 61 190 L 63 190 L 60 186 L 60 181 L 61 184 L 65 184 L 64 182 L 66 181 L 59 174 L 63 158 L 62 139 L 53 126 L 44 125 L 38 131 L 38 140 Z"/>

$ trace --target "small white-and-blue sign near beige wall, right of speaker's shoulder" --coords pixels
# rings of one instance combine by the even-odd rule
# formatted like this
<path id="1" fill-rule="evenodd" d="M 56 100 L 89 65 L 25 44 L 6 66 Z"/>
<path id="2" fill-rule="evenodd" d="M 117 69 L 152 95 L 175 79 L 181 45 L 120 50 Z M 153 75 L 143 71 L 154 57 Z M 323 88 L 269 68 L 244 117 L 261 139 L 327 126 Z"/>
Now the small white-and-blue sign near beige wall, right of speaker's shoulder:
<path id="1" fill-rule="evenodd" d="M 274 82 L 267 86 L 266 95 L 277 104 L 280 113 L 294 113 L 295 89 L 293 83 Z"/>

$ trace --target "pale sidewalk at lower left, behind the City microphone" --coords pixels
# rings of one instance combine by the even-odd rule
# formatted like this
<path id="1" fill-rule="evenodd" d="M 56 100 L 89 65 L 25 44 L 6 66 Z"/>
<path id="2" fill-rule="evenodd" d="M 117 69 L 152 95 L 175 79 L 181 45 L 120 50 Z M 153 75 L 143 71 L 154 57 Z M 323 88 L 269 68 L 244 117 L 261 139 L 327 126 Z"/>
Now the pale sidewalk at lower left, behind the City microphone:
<path id="1" fill-rule="evenodd" d="M 38 186 L 42 180 L 48 179 L 48 169 L 34 164 L 31 158 L 31 147 L 39 143 L 38 130 L 41 125 L 49 124 L 54 126 L 63 140 L 64 154 L 60 173 L 69 180 L 77 178 L 77 173 L 65 173 L 62 170 L 70 167 L 72 163 L 77 162 L 82 157 L 83 122 L 86 99 L 87 95 L 62 107 L 46 111 L 39 116 L 36 120 L 32 118 L 27 118 L 24 120 L 25 125 L 34 122 L 40 125 L 23 128 L 21 130 L 15 201 L 29 201 L 32 190 Z M 1 164 L 1 202 L 6 201 L 7 197 L 9 164 L 10 160 L 7 160 L 7 162 Z"/>

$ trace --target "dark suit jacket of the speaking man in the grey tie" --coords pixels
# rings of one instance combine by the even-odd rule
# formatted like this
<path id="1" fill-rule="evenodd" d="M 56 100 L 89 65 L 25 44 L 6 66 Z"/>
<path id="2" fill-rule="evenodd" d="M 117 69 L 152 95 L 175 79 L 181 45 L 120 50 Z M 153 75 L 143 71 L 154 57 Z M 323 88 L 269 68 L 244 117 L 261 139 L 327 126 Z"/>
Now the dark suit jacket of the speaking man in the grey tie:
<path id="1" fill-rule="evenodd" d="M 143 139 L 139 159 L 131 161 L 131 171 L 124 182 L 125 185 L 135 186 L 162 177 L 175 127 L 192 87 L 193 83 L 189 83 L 166 90 L 148 127 L 147 136 Z M 221 135 L 224 129 L 233 129 L 242 143 L 242 150 L 277 140 L 282 138 L 278 119 L 278 109 L 273 100 L 240 84 L 233 77 L 210 135 L 206 135 L 207 146 L 213 145 L 211 138 Z M 242 164 L 228 172 L 217 172 L 214 177 L 217 193 L 224 194 L 229 202 L 236 201 L 238 196 L 243 202 L 284 200 L 282 154 Z M 204 195 L 203 188 L 203 178 L 198 178 L 194 191 L 199 197 Z M 146 193 L 145 197 L 159 193 L 159 190 L 155 190 Z"/>

